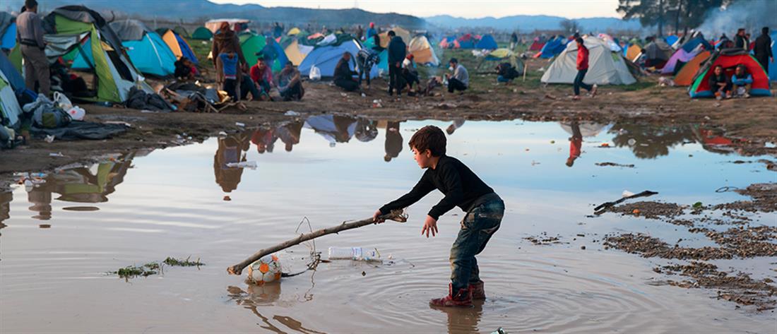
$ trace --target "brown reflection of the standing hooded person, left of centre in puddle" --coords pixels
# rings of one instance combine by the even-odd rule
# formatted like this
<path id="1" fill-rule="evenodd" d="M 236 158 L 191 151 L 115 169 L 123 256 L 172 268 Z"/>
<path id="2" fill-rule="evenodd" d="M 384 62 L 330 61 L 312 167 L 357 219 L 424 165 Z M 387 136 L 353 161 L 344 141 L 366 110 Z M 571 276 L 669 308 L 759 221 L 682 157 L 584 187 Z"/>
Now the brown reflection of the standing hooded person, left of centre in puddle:
<path id="1" fill-rule="evenodd" d="M 213 156 L 213 172 L 216 183 L 225 193 L 232 193 L 237 189 L 242 176 L 242 168 L 229 167 L 228 164 L 245 162 L 250 143 L 246 134 L 231 134 L 224 138 L 218 138 L 218 149 Z"/>

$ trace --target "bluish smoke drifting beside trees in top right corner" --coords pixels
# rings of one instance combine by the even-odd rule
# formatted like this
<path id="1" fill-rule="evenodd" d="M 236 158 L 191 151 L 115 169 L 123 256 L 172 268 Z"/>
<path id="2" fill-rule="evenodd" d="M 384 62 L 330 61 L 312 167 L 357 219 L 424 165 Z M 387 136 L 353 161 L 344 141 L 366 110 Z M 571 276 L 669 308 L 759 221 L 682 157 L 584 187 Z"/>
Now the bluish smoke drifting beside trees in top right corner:
<path id="1" fill-rule="evenodd" d="M 737 29 L 744 28 L 755 38 L 761 34 L 761 27 L 777 29 L 777 1 L 739 0 L 726 9 L 710 9 L 704 23 L 697 30 L 708 38 L 720 37 L 722 33 L 733 37 Z"/>

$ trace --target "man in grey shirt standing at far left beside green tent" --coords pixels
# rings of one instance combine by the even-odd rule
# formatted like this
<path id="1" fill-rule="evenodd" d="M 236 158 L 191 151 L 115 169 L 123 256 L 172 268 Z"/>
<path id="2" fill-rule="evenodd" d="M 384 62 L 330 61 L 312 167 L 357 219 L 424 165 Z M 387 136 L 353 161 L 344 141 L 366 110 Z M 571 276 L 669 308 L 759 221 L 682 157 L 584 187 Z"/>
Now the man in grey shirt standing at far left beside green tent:
<path id="1" fill-rule="evenodd" d="M 48 96 L 51 92 L 49 64 L 44 49 L 43 21 L 38 16 L 38 2 L 26 0 L 25 11 L 16 17 L 16 41 L 21 46 L 24 58 L 24 85 L 35 90 L 35 82 L 40 85 L 40 92 Z"/>

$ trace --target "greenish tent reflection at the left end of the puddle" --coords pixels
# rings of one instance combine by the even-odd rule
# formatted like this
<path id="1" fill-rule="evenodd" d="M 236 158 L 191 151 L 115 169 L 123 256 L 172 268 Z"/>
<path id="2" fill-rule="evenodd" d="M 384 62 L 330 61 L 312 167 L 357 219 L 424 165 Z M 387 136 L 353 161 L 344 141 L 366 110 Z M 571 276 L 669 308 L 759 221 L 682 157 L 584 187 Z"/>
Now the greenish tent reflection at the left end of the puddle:
<path id="1" fill-rule="evenodd" d="M 51 219 L 52 193 L 58 193 L 57 200 L 75 203 L 103 203 L 116 186 L 124 181 L 127 170 L 132 168 L 135 153 L 120 155 L 107 162 L 92 165 L 91 168 L 77 167 L 52 173 L 44 178 L 45 183 L 27 190 L 30 210 L 37 212 L 35 219 Z"/>

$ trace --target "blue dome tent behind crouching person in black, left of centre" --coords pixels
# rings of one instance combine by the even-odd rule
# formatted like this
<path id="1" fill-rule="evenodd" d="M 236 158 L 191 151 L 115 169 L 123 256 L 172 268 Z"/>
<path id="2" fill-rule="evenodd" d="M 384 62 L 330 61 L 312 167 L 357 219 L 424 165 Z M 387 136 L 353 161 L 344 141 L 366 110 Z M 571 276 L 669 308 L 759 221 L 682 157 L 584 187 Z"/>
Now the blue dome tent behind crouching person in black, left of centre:
<path id="1" fill-rule="evenodd" d="M 361 50 L 361 45 L 356 40 L 349 40 L 339 45 L 327 45 L 325 47 L 316 47 L 299 64 L 301 75 L 310 75 L 310 68 L 315 66 L 321 70 L 322 78 L 332 78 L 335 73 L 335 66 L 343 53 L 350 53 L 351 69 L 356 68 L 356 54 Z M 378 68 L 373 67 L 370 72 L 370 78 L 378 76 Z"/>

